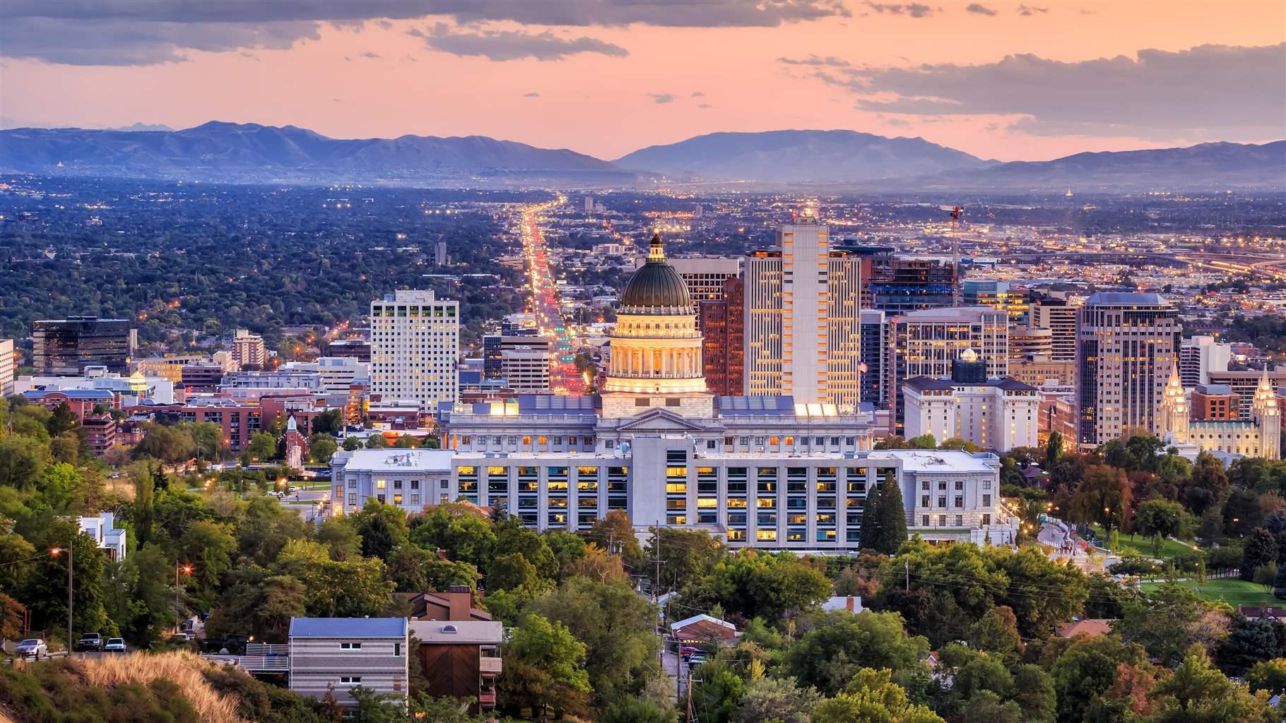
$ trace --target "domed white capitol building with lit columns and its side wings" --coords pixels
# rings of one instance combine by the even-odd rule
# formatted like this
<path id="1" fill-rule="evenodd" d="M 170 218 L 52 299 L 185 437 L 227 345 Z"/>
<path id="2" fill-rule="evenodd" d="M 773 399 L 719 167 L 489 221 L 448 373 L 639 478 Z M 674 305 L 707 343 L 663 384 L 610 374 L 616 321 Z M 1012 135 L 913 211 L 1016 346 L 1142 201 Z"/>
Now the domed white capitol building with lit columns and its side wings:
<path id="1" fill-rule="evenodd" d="M 624 510 L 639 530 L 841 553 L 858 550 L 867 494 L 891 475 L 913 534 L 994 544 L 1017 536 L 995 455 L 878 451 L 869 411 L 711 394 L 701 342 L 696 304 L 653 236 L 621 294 L 599 394 L 455 405 L 442 415 L 444 449 L 338 452 L 336 510 L 374 497 L 418 512 L 466 498 L 571 532 Z"/>

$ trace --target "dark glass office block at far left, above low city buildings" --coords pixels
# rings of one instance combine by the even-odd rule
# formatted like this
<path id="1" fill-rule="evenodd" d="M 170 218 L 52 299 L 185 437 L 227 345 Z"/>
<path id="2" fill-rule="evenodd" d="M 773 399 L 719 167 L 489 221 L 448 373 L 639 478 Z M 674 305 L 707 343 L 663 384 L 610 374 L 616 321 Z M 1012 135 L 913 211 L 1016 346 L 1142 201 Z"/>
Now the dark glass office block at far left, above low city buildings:
<path id="1" fill-rule="evenodd" d="M 68 316 L 32 325 L 35 376 L 80 376 L 85 367 L 130 374 L 138 331 L 127 318 Z"/>

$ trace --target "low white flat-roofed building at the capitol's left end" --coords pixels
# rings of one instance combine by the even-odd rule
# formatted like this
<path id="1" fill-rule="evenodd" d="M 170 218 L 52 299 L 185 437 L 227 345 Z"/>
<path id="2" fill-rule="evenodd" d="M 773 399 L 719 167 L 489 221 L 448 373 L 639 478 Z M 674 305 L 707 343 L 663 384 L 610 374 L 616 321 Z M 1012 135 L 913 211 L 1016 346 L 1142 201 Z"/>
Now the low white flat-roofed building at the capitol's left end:
<path id="1" fill-rule="evenodd" d="M 419 512 L 426 505 L 451 502 L 451 458 L 444 449 L 355 449 L 331 458 L 334 510 L 351 514 L 368 500 Z"/>

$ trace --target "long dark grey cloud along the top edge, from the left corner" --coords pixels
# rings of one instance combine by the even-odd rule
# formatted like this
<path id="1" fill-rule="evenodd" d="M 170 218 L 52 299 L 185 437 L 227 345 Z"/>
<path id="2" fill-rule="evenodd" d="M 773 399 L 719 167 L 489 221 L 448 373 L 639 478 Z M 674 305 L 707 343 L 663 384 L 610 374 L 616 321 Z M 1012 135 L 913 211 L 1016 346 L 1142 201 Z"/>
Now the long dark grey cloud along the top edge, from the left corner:
<path id="1" fill-rule="evenodd" d="M 5 0 L 0 57 L 71 65 L 179 63 L 190 50 L 292 48 L 320 37 L 322 23 L 360 30 L 374 22 L 388 30 L 390 21 L 428 15 L 457 23 L 777 27 L 851 13 L 841 0 Z"/>

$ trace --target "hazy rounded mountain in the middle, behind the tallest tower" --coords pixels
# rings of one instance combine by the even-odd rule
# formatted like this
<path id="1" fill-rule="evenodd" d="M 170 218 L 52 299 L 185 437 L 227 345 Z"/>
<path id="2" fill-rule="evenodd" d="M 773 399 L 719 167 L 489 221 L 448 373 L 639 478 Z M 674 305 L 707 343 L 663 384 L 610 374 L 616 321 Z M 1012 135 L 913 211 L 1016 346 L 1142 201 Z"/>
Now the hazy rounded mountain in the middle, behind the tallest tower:
<path id="1" fill-rule="evenodd" d="M 615 163 L 675 177 L 763 184 L 874 181 L 990 164 L 925 139 L 856 131 L 710 134 L 635 150 Z"/>

